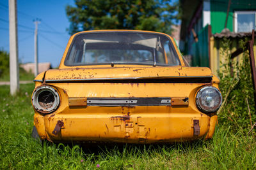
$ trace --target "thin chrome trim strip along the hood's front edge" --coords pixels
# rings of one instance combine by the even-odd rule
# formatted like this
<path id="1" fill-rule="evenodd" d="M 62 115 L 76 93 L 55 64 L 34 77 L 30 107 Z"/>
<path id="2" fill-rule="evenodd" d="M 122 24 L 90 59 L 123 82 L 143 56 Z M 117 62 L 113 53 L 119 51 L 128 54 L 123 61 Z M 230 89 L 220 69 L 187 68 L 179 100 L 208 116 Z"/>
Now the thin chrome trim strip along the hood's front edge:
<path id="1" fill-rule="evenodd" d="M 58 81 L 92 81 L 92 80 L 138 80 L 138 79 L 154 79 L 154 78 L 212 78 L 212 76 L 150 76 L 150 77 L 127 77 L 127 78 L 80 78 L 80 79 L 59 79 L 45 80 L 45 82 Z M 35 80 L 34 80 L 35 81 Z M 42 80 L 40 80 L 42 82 Z"/>

